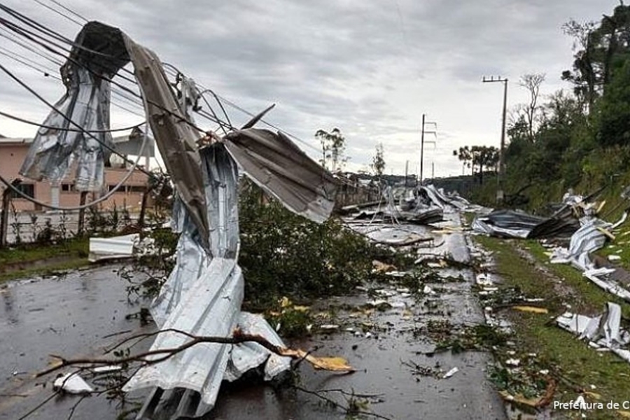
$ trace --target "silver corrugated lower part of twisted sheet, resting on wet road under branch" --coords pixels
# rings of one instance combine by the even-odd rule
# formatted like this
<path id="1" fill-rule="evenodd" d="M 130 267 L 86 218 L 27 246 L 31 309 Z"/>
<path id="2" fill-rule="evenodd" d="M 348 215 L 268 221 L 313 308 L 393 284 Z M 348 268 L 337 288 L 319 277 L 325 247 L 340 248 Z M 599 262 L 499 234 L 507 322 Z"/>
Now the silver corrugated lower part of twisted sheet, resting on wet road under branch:
<path id="1" fill-rule="evenodd" d="M 184 216 L 177 256 L 178 263 L 151 307 L 162 330 L 175 329 L 197 336 L 230 337 L 241 328 L 260 333 L 283 346 L 264 318 L 242 314 L 244 279 L 236 258 L 239 248 L 237 165 L 223 144 L 204 148 L 201 153 L 207 218 L 211 232 L 211 254 L 195 239 L 196 226 Z M 186 212 L 185 207 L 179 211 Z M 177 215 L 176 218 L 181 217 Z M 172 349 L 188 341 L 176 332 L 161 332 L 151 350 Z M 214 406 L 223 379 L 235 380 L 247 370 L 265 364 L 265 377 L 290 367 L 290 359 L 270 355 L 253 343 L 230 346 L 204 343 L 179 353 L 165 362 L 141 368 L 124 391 L 158 386 L 188 388 L 201 395 L 197 416 Z"/>

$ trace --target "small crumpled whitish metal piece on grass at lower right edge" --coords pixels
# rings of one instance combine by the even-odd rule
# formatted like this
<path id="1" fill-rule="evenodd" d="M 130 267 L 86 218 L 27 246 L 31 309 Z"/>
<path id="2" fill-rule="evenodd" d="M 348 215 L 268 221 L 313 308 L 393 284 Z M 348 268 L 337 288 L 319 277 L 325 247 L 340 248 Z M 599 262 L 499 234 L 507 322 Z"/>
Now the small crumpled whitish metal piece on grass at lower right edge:
<path id="1" fill-rule="evenodd" d="M 610 349 L 630 363 L 630 332 L 621 328 L 622 310 L 618 304 L 608 302 L 603 314 L 590 317 L 569 312 L 556 318 L 560 328 L 586 339 L 596 349 Z"/>

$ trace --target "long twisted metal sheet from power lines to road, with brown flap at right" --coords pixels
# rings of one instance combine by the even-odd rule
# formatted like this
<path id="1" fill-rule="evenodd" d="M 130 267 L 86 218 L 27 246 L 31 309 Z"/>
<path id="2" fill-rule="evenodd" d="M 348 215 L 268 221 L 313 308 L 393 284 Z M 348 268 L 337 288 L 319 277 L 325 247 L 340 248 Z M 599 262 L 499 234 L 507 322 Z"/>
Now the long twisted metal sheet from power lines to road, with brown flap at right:
<path id="1" fill-rule="evenodd" d="M 200 133 L 187 122 L 188 101 L 177 100 L 160 59 L 118 29 L 89 22 L 78 36 L 76 48 L 78 62 L 93 65 L 97 71 L 113 74 L 128 61 L 133 63 L 148 123 L 175 184 L 174 228 L 181 235 L 176 267 L 151 308 L 158 326 L 194 335 L 229 337 L 239 320 L 244 320 L 247 323 L 244 328 L 268 334 L 272 342 L 280 345 L 281 340 L 264 319 L 242 318 L 240 312 L 244 279 L 237 265 L 237 164 L 290 210 L 317 222 L 324 221 L 332 211 L 335 180 L 280 133 L 252 128 L 239 130 L 200 151 L 197 148 Z M 188 86 L 194 87 L 192 83 Z M 99 94 L 106 92 L 104 89 Z M 89 112 L 103 113 L 99 104 L 90 102 L 85 107 Z M 109 116 L 103 116 L 102 120 L 109 125 Z M 97 162 L 102 162 L 101 155 L 94 156 Z M 66 155 L 66 160 L 70 160 L 70 155 Z M 85 174 L 92 180 L 98 176 L 97 171 Z M 175 331 L 160 332 L 151 349 L 170 349 L 187 339 Z M 232 355 L 238 358 L 230 362 Z M 225 344 L 197 344 L 172 358 L 141 368 L 124 389 L 187 388 L 185 395 L 199 392 L 202 403 L 191 398 L 197 400 L 196 408 L 188 407 L 186 412 L 192 409 L 196 415 L 202 415 L 214 405 L 223 379 L 233 379 L 241 370 L 261 360 L 267 363 L 267 377 L 289 366 L 288 359 L 270 356 L 259 346 L 243 344 L 241 351 L 234 352 L 233 346 Z M 162 392 L 158 390 L 154 395 L 159 399 Z"/>

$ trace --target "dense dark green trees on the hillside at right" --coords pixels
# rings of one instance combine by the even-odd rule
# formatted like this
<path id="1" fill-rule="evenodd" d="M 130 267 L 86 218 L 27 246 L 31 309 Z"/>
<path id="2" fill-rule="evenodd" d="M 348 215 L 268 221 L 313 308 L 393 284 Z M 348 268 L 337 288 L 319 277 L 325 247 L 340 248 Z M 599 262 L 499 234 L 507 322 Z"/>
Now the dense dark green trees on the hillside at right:
<path id="1" fill-rule="evenodd" d="M 563 29 L 575 41 L 573 69 L 563 73 L 573 93 L 547 97 L 533 130 L 521 112 L 526 105 L 507 127 L 505 195 L 524 195 L 519 202 L 530 211 L 560 200 L 567 188 L 589 193 L 630 165 L 630 6 Z M 493 188 L 478 188 L 472 198 L 490 204 Z"/>

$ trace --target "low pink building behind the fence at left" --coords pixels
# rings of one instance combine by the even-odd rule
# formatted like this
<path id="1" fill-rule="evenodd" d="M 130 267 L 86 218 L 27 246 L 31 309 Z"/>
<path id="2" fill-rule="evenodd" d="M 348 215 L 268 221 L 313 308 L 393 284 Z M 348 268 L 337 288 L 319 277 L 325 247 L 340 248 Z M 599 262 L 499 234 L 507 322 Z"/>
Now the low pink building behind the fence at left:
<path id="1" fill-rule="evenodd" d="M 127 138 L 115 139 L 116 148 L 127 148 L 130 150 L 138 150 L 134 148 L 133 141 Z M 126 144 L 125 144 L 126 143 Z M 10 139 L 0 136 L 0 175 L 8 181 L 13 181 L 16 178 L 22 179 L 22 183 L 18 185 L 18 188 L 31 197 L 34 197 L 40 202 L 51 204 L 57 207 L 73 207 L 78 206 L 80 201 L 80 193 L 74 189 L 73 176 L 74 171 L 69 172 L 69 176 L 66 177 L 59 185 L 54 186 L 49 181 L 34 181 L 32 179 L 20 176 L 19 171 L 22 167 L 26 155 L 31 145 L 31 139 Z M 118 147 L 120 145 L 120 148 Z M 153 142 L 150 147 L 146 148 L 147 153 L 144 154 L 144 164 L 148 165 L 148 158 L 153 157 Z M 115 160 L 113 158 L 112 160 Z M 120 158 L 118 158 L 121 161 Z M 120 163 L 118 165 L 113 164 L 112 167 L 105 168 L 105 185 L 100 193 L 88 193 L 87 202 L 102 197 L 102 195 L 113 189 L 121 179 L 125 177 L 129 169 L 125 164 Z M 120 187 L 120 189 L 114 193 L 108 200 L 102 202 L 102 209 L 113 209 L 116 207 L 126 206 L 130 211 L 139 210 L 142 201 L 142 194 L 146 188 L 148 176 L 144 172 L 138 169 L 134 170 L 134 173 L 129 179 Z M 4 185 L 0 183 L 0 191 L 4 190 Z M 12 199 L 15 209 L 18 211 L 45 211 L 45 207 L 38 206 L 30 202 L 29 200 L 14 195 Z"/>

